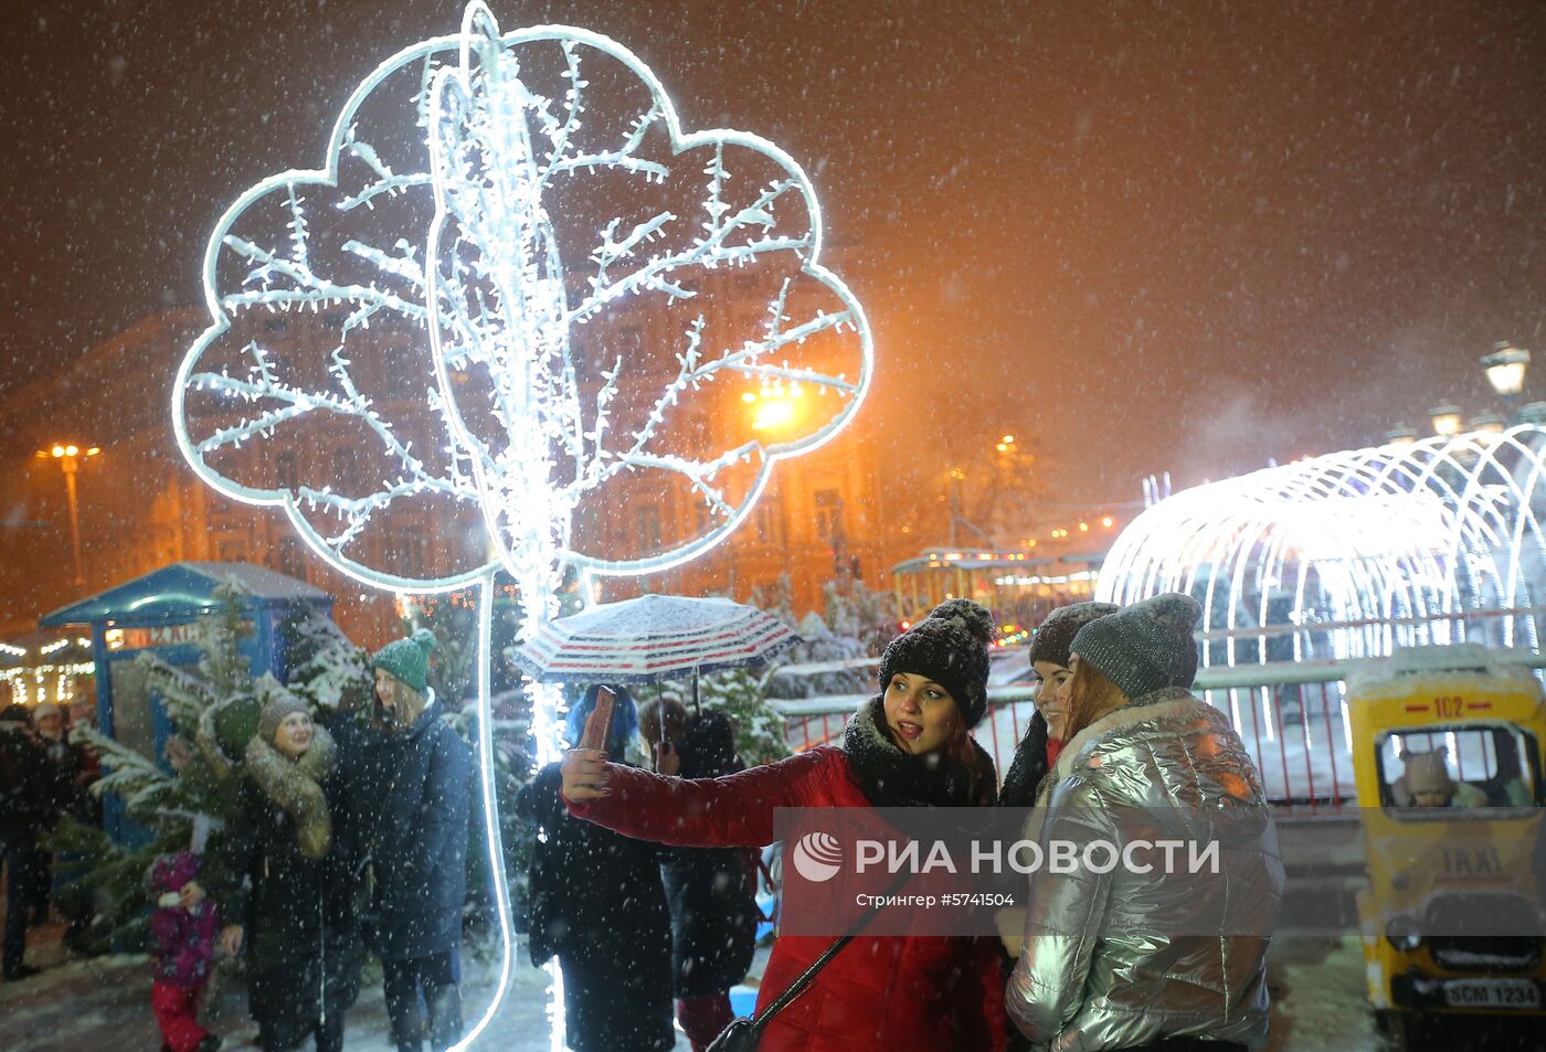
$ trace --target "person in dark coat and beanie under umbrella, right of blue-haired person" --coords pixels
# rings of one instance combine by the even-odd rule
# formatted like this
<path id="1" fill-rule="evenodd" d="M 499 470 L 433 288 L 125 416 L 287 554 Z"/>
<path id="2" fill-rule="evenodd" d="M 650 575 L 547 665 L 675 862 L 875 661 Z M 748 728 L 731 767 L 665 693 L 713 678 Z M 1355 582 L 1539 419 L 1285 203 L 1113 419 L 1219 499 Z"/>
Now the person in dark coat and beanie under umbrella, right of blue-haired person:
<path id="1" fill-rule="evenodd" d="M 717 779 L 745 765 L 724 712 L 690 715 L 674 694 L 646 701 L 640 737 L 654 769 L 683 779 Z M 730 987 L 747 976 L 756 953 L 756 856 L 741 848 L 676 848 L 660 867 L 671 907 L 671 986 L 677 1023 L 703 1052 L 734 1020 Z"/>

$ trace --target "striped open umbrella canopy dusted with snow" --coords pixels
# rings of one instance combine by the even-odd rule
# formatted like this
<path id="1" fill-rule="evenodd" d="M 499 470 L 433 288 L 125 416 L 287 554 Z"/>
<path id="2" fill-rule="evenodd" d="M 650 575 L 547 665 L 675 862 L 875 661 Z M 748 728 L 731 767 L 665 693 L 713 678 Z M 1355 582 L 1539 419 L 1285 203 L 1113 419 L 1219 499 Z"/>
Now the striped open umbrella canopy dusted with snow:
<path id="1" fill-rule="evenodd" d="M 742 669 L 795 643 L 782 621 L 742 602 L 642 595 L 558 618 L 506 653 L 543 683 L 652 683 Z"/>

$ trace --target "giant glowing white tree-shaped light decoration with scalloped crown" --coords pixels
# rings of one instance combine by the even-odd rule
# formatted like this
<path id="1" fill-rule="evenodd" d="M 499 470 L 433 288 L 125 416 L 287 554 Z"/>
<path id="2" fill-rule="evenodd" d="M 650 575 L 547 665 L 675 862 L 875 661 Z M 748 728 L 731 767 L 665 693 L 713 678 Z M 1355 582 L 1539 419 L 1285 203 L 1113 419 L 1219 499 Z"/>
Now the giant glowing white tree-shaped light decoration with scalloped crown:
<path id="1" fill-rule="evenodd" d="M 173 388 L 178 445 L 365 584 L 479 585 L 502 887 L 495 573 L 513 576 L 533 635 L 569 572 L 651 573 L 719 544 L 779 459 L 852 419 L 869 326 L 818 263 L 801 167 L 753 134 L 683 131 L 649 68 L 584 29 L 501 34 L 475 0 L 459 34 L 356 88 L 326 161 L 264 179 L 215 227 L 212 323 Z M 297 311 L 320 324 L 292 326 Z M 742 400 L 759 399 L 799 409 L 751 420 Z M 629 541 L 617 516 L 642 504 L 652 518 Z M 671 536 L 662 508 L 685 522 Z M 549 762 L 557 697 L 532 692 Z M 467 1043 L 509 976 L 499 905 L 499 993 Z"/>

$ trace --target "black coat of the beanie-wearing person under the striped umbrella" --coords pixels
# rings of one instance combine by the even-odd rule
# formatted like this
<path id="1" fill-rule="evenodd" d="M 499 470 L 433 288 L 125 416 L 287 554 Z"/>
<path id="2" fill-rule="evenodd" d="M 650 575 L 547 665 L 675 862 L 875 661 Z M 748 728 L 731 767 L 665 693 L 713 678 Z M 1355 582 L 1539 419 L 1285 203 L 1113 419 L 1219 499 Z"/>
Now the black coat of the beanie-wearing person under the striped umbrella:
<path id="1" fill-rule="evenodd" d="M 683 779 L 717 779 L 745 769 L 722 712 L 694 717 L 677 754 Z M 748 853 L 741 848 L 673 848 L 660 876 L 671 907 L 676 995 L 719 993 L 747 978 L 761 916 Z"/>

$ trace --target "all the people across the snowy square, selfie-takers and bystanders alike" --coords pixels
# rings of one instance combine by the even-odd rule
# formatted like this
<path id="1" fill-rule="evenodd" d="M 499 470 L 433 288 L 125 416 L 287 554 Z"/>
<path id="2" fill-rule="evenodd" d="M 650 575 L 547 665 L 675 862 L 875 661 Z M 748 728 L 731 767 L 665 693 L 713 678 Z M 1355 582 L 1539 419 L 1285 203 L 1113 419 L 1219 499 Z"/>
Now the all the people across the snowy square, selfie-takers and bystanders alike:
<path id="1" fill-rule="evenodd" d="M 569 1047 L 694 1052 L 1231 1052 L 1266 1041 L 1265 956 L 1283 870 L 1260 777 L 1228 720 L 1190 686 L 1195 601 L 1054 610 L 1030 644 L 1036 715 L 1000 782 L 972 728 L 988 712 L 991 615 L 949 601 L 898 635 L 880 692 L 839 745 L 744 769 L 716 711 L 614 687 L 601 748 L 580 748 L 598 687 L 569 712 L 570 749 L 518 809 L 535 830 L 527 910 L 533 964 L 557 958 Z M 218 867 L 162 856 L 147 874 L 164 1049 L 210 1052 L 198 1021 L 220 953 L 246 959 L 264 1052 L 343 1047 L 363 953 L 382 962 L 399 1052 L 464 1033 L 459 981 L 473 763 L 428 687 L 433 636 L 371 657 L 365 720 L 325 728 L 297 698 L 263 709 L 238 766 Z M 39 833 L 90 806 L 90 758 L 54 712 L 0 714 L 0 813 L 9 874 L 5 978 L 25 978 Z M 625 757 L 643 757 L 628 763 Z M 779 935 L 754 1021 L 730 990 L 764 919 L 758 850 L 778 808 L 1022 808 L 1040 837 L 1115 830 L 1091 816 L 1163 802 L 1181 822 L 1249 814 L 1221 873 L 1039 868 L 986 935 Z M 1217 825 L 1217 822 L 1215 822 Z M 201 873 L 213 874 L 206 887 Z M 1220 896 L 1220 888 L 1229 894 Z M 1238 935 L 1207 938 L 1224 898 Z M 218 905 L 216 905 L 218 904 Z M 798 996 L 784 996 L 784 995 Z"/>

